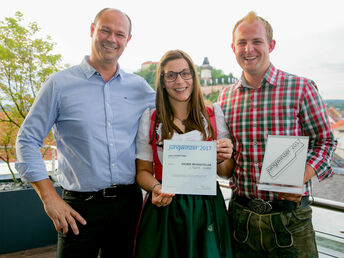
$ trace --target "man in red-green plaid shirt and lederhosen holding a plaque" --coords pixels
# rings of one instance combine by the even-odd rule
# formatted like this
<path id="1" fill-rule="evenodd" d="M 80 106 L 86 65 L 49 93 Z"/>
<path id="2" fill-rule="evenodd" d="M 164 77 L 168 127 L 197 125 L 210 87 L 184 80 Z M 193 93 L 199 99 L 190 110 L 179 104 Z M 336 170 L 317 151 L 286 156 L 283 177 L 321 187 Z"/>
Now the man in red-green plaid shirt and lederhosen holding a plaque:
<path id="1" fill-rule="evenodd" d="M 336 148 L 316 84 L 276 69 L 271 25 L 250 12 L 233 29 L 232 49 L 243 69 L 241 80 L 223 90 L 225 114 L 236 154 L 230 184 L 235 257 L 317 257 L 311 178 L 333 175 Z M 258 191 L 268 135 L 309 136 L 303 195 Z"/>

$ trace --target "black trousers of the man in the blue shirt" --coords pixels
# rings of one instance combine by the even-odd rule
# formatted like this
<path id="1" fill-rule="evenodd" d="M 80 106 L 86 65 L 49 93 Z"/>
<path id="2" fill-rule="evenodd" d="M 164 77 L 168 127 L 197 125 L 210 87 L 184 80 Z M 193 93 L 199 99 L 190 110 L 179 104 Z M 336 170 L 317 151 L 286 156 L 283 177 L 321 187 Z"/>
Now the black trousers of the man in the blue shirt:
<path id="1" fill-rule="evenodd" d="M 62 195 L 63 199 L 86 220 L 78 223 L 79 235 L 69 228 L 58 233 L 57 257 L 132 257 L 142 192 L 137 186 L 126 194 L 105 198 L 80 198 Z"/>

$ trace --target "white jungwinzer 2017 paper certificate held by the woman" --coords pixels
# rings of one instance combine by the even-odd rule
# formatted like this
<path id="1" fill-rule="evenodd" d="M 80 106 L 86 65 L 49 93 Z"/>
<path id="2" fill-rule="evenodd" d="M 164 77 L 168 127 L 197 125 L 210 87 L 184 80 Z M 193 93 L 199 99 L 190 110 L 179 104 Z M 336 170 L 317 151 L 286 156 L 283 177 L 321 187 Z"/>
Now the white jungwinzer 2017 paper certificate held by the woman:
<path id="1" fill-rule="evenodd" d="M 162 191 L 216 195 L 216 143 L 164 140 Z"/>

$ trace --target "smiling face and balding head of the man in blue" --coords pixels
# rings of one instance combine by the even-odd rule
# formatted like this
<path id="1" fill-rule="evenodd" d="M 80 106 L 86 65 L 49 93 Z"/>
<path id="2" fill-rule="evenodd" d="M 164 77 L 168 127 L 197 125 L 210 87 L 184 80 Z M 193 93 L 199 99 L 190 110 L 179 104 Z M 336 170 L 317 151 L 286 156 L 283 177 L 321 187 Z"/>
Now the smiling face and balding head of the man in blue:
<path id="1" fill-rule="evenodd" d="M 128 18 L 117 10 L 107 10 L 91 25 L 92 51 L 90 61 L 95 66 L 117 64 L 131 36 Z"/>

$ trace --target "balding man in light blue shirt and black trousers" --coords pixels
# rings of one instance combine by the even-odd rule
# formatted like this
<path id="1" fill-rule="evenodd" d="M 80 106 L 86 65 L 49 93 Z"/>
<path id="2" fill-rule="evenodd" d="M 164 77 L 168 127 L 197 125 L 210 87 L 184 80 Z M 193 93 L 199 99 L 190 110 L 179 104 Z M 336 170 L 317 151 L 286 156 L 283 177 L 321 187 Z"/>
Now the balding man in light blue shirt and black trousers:
<path id="1" fill-rule="evenodd" d="M 99 250 L 102 257 L 130 257 L 142 204 L 135 136 L 155 92 L 118 64 L 131 39 L 126 14 L 103 9 L 91 37 L 91 55 L 41 88 L 18 133 L 16 169 L 32 183 L 58 231 L 58 257 L 97 257 Z M 62 199 L 40 154 L 51 128 Z"/>

